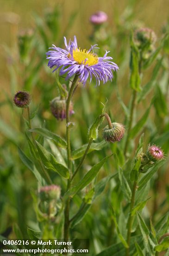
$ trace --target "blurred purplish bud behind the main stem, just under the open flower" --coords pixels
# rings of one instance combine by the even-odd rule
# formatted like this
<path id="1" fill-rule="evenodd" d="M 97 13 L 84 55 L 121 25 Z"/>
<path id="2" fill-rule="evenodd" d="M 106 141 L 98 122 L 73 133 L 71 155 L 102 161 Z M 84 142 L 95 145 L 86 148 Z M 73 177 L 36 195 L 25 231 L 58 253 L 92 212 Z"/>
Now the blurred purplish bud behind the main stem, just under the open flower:
<path id="1" fill-rule="evenodd" d="M 50 109 L 52 114 L 59 120 L 63 120 L 66 118 L 66 100 L 60 99 L 60 97 L 54 98 L 50 101 Z M 70 101 L 69 105 L 69 115 L 74 114 L 73 111 L 73 103 Z"/>

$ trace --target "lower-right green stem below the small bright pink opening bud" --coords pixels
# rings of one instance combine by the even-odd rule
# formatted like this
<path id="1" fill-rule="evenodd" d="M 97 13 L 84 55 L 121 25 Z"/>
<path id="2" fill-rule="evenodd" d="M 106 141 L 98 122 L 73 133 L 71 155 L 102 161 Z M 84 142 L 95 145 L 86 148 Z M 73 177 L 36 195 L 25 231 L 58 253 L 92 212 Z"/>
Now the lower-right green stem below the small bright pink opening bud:
<path id="1" fill-rule="evenodd" d="M 131 213 L 132 213 L 132 209 L 134 207 L 136 188 L 137 188 L 137 181 L 134 181 L 133 187 L 132 187 L 132 194 L 131 194 L 130 215 L 129 215 L 129 219 L 128 219 L 128 223 L 127 223 L 127 226 L 128 226 L 127 244 L 128 244 L 129 247 L 126 248 L 126 250 L 125 250 L 125 256 L 130 255 L 130 238 L 131 238 L 131 229 L 132 229 L 132 220 L 133 220 L 133 216 L 131 216 Z"/>

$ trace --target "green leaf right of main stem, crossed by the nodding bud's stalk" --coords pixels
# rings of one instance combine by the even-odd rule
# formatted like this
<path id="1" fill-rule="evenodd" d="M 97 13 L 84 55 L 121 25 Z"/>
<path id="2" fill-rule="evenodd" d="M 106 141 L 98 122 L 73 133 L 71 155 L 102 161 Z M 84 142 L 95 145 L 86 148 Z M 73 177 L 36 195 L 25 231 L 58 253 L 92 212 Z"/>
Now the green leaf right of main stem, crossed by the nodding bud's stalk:
<path id="1" fill-rule="evenodd" d="M 83 156 L 87 146 L 88 146 L 88 144 L 85 144 L 81 148 L 77 148 L 74 151 L 72 151 L 71 159 L 75 160 L 75 159 L 78 159 L 81 156 Z M 106 141 L 101 141 L 99 143 L 92 143 L 88 150 L 88 154 L 94 150 L 100 150 L 105 146 L 106 146 Z"/>

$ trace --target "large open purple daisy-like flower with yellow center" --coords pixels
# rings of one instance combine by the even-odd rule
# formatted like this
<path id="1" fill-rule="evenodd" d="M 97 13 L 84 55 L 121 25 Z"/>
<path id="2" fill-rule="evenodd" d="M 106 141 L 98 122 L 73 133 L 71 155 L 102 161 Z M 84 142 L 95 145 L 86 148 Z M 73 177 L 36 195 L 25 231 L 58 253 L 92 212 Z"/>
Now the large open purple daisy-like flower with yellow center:
<path id="1" fill-rule="evenodd" d="M 96 45 L 92 46 L 89 50 L 81 50 L 77 46 L 77 40 L 74 36 L 74 41 L 67 40 L 64 37 L 64 44 L 66 49 L 56 47 L 53 45 L 50 51 L 46 53 L 47 59 L 49 60 L 48 66 L 50 68 L 56 67 L 56 71 L 59 67 L 60 75 L 66 75 L 66 80 L 68 80 L 73 75 L 79 75 L 79 81 L 86 84 L 88 77 L 90 77 L 90 82 L 92 81 L 92 76 L 96 78 L 96 85 L 100 85 L 100 81 L 106 83 L 108 80 L 112 81 L 113 71 L 117 71 L 119 67 L 112 60 L 112 57 L 107 56 L 106 51 L 103 57 L 98 57 L 94 54 L 93 50 Z"/>

